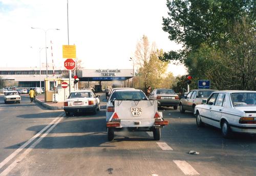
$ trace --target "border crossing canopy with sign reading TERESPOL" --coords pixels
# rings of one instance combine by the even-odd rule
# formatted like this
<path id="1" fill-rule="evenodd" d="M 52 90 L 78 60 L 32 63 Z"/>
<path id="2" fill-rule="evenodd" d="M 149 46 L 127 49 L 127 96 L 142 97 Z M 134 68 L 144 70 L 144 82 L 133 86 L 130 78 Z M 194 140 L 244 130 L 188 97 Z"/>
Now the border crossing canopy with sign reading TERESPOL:
<path id="1" fill-rule="evenodd" d="M 84 69 L 77 72 L 80 81 L 99 81 L 95 91 L 102 91 L 102 81 L 119 81 L 122 87 L 130 87 L 130 79 L 133 78 L 133 69 Z M 127 81 L 128 80 L 128 81 Z"/>

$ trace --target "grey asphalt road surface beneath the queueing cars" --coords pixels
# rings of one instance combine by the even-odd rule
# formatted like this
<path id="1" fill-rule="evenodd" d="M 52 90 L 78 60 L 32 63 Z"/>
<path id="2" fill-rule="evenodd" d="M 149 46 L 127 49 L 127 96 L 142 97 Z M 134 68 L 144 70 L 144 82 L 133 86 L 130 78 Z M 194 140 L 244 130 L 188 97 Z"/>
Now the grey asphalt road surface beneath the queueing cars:
<path id="1" fill-rule="evenodd" d="M 104 104 L 96 115 L 67 118 L 28 98 L 0 102 L 0 175 L 256 175 L 255 136 L 224 139 L 218 129 L 197 128 L 191 112 L 161 108 L 169 125 L 160 141 L 152 133 L 117 132 L 108 142 Z"/>

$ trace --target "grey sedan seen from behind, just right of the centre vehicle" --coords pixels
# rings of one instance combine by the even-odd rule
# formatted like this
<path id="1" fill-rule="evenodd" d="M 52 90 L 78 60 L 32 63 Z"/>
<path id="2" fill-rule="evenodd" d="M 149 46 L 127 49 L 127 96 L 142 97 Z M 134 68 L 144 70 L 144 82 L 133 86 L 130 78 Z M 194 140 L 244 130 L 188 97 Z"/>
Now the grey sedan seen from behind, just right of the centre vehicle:
<path id="1" fill-rule="evenodd" d="M 158 100 L 158 106 L 172 106 L 175 110 L 180 103 L 179 95 L 173 89 L 154 89 L 148 98 Z"/>

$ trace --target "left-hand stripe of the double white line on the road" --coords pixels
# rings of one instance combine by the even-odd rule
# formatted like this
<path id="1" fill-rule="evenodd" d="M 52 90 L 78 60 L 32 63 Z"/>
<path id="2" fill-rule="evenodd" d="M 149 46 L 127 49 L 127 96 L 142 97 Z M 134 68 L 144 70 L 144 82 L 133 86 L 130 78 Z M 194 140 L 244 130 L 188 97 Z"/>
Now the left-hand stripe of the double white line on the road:
<path id="1" fill-rule="evenodd" d="M 51 123 L 49 123 L 44 129 L 42 129 L 40 132 L 38 132 L 36 135 L 34 135 L 32 138 L 30 138 L 25 144 L 20 146 L 18 149 L 16 149 L 11 155 L 9 155 L 4 161 L 0 163 L 0 169 L 8 163 L 11 159 L 13 159 L 20 151 L 22 151 L 27 145 L 29 145 L 34 139 L 36 139 L 39 135 L 41 135 L 44 131 L 46 131 L 56 120 L 58 120 L 63 113 L 61 113 L 58 117 L 56 117 Z"/>

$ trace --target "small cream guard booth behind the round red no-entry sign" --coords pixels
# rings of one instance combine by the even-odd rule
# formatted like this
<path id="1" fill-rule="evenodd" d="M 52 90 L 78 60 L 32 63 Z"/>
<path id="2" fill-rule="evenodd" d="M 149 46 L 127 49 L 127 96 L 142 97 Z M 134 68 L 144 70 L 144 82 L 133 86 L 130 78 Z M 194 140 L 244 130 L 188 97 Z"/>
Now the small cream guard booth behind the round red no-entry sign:
<path id="1" fill-rule="evenodd" d="M 67 99 L 70 94 L 69 86 L 67 88 L 62 88 L 62 82 L 66 82 L 69 84 L 69 78 L 45 79 L 45 102 L 54 102 L 54 96 L 56 102 L 64 102 Z M 73 82 L 74 79 L 71 79 L 71 91 L 74 90 Z"/>

